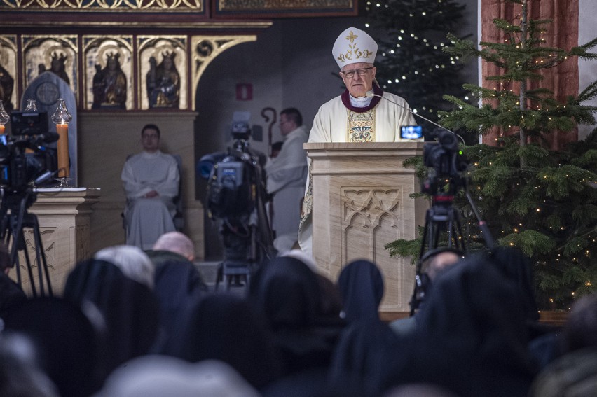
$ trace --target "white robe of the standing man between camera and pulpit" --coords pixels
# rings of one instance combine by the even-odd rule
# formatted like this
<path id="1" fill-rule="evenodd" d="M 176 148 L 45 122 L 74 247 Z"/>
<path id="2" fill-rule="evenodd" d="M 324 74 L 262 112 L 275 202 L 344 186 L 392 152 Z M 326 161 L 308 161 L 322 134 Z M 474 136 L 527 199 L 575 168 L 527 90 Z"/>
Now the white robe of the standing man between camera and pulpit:
<path id="1" fill-rule="evenodd" d="M 307 181 L 307 152 L 303 144 L 309 137 L 307 127 L 287 134 L 282 150 L 268 165 L 268 193 L 273 193 L 274 247 L 278 252 L 289 251 L 297 239 L 301 221 L 301 202 Z"/>

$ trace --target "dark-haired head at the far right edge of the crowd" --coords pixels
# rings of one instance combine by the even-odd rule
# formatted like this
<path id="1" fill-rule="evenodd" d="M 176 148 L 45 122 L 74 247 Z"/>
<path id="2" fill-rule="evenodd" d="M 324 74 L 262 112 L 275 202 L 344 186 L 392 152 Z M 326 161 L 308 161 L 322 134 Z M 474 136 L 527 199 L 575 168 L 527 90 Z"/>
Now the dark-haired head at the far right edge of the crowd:
<path id="1" fill-rule="evenodd" d="M 585 295 L 575 301 L 562 332 L 564 353 L 597 349 L 597 295 Z"/>

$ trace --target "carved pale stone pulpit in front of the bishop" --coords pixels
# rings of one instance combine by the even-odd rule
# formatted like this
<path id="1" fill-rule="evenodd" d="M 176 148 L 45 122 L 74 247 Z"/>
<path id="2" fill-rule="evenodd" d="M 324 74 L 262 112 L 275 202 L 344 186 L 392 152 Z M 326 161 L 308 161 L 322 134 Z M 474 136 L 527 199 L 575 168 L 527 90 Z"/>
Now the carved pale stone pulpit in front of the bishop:
<path id="1" fill-rule="evenodd" d="M 385 244 L 414 239 L 425 224 L 425 199 L 406 158 L 423 155 L 423 142 L 305 144 L 313 174 L 313 256 L 336 281 L 356 259 L 376 263 L 385 293 L 380 312 L 408 312 L 415 267 L 410 258 L 390 258 Z"/>

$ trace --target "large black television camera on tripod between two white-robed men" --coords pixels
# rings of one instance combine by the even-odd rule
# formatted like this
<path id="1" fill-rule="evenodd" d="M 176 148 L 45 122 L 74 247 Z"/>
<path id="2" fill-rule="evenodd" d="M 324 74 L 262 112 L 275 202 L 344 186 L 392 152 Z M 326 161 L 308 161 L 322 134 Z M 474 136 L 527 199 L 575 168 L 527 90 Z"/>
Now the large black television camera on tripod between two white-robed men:
<path id="1" fill-rule="evenodd" d="M 270 200 L 263 171 L 266 157 L 250 148 L 250 136 L 247 121 L 233 122 L 232 146 L 204 155 L 198 164 L 200 175 L 207 179 L 207 214 L 222 221 L 224 261 L 218 283 L 226 278 L 228 287 L 238 284 L 240 277 L 248 280 L 256 265 L 275 256 L 266 211 Z"/>

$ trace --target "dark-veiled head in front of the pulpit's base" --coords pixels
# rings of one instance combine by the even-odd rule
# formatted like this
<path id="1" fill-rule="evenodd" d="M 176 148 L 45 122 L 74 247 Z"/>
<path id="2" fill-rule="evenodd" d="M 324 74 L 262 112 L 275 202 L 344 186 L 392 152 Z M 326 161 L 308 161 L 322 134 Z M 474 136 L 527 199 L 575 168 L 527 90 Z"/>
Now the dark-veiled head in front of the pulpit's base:
<path id="1" fill-rule="evenodd" d="M 338 288 L 347 321 L 378 320 L 383 298 L 383 276 L 369 260 L 353 260 L 340 272 Z"/>

